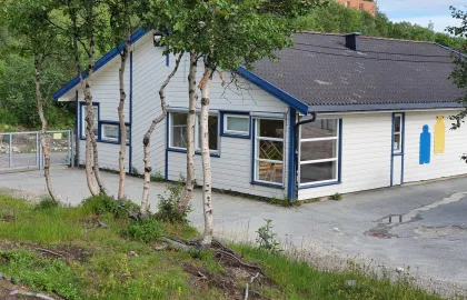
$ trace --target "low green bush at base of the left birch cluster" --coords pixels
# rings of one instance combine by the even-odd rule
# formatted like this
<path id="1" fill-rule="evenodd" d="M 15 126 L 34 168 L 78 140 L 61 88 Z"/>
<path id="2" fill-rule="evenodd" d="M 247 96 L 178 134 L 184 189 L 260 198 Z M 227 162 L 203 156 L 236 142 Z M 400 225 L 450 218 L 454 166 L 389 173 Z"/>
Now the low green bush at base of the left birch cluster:
<path id="1" fill-rule="evenodd" d="M 128 218 L 129 211 L 138 210 L 139 208 L 129 200 L 117 201 L 106 194 L 92 196 L 85 199 L 82 201 L 82 207 L 98 216 L 111 213 L 118 219 Z"/>

